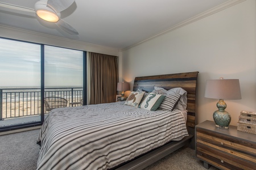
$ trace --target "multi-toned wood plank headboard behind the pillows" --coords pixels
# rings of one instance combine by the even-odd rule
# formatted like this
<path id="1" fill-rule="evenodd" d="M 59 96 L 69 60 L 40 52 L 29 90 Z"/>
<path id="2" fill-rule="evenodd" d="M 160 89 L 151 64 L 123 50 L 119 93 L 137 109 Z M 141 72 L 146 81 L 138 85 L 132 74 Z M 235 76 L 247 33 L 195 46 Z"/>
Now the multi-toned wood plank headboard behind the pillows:
<path id="1" fill-rule="evenodd" d="M 140 76 L 134 79 L 133 90 L 142 88 L 143 91 L 151 92 L 154 86 L 170 90 L 171 88 L 181 87 L 187 91 L 187 126 L 195 128 L 196 118 L 196 85 L 198 71 L 189 73 Z M 188 129 L 189 130 L 189 129 Z M 193 132 L 192 132 L 193 133 Z"/>

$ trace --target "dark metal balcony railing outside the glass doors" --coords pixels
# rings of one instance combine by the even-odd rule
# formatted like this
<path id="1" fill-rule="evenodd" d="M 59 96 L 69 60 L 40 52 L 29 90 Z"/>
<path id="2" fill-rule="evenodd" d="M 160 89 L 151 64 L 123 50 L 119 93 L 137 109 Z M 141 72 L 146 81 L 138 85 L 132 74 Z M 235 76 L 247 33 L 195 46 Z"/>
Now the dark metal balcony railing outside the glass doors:
<path id="1" fill-rule="evenodd" d="M 45 88 L 44 97 L 63 97 L 69 104 L 80 102 L 82 87 Z M 0 120 L 41 114 L 40 88 L 2 88 L 0 89 Z"/>

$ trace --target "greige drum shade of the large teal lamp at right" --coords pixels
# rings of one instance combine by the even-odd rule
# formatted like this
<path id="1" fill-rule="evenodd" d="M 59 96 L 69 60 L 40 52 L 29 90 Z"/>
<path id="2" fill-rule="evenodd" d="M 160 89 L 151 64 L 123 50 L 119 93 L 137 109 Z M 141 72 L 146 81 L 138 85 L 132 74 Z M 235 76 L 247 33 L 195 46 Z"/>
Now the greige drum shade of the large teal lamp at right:
<path id="1" fill-rule="evenodd" d="M 204 96 L 211 99 L 241 99 L 239 79 L 207 80 Z"/>

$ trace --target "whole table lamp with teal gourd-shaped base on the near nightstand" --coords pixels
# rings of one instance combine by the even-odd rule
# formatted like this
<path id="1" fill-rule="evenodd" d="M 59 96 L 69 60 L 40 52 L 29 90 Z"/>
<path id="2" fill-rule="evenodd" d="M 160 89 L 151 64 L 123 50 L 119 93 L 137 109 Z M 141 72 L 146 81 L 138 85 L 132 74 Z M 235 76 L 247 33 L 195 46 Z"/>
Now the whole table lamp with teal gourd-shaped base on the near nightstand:
<path id="1" fill-rule="evenodd" d="M 239 79 L 207 80 L 204 96 L 211 99 L 220 99 L 217 103 L 218 110 L 213 113 L 213 120 L 217 127 L 228 129 L 231 116 L 225 111 L 226 103 L 224 99 L 241 99 Z"/>

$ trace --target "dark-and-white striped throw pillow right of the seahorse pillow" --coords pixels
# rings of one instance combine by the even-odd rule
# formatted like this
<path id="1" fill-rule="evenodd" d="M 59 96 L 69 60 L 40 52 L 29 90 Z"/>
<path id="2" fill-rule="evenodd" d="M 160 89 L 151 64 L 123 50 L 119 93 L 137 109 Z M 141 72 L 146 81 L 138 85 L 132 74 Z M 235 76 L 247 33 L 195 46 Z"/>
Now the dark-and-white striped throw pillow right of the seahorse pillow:
<path id="1" fill-rule="evenodd" d="M 180 99 L 180 94 L 166 95 L 166 98 L 162 101 L 159 109 L 172 111 Z"/>

